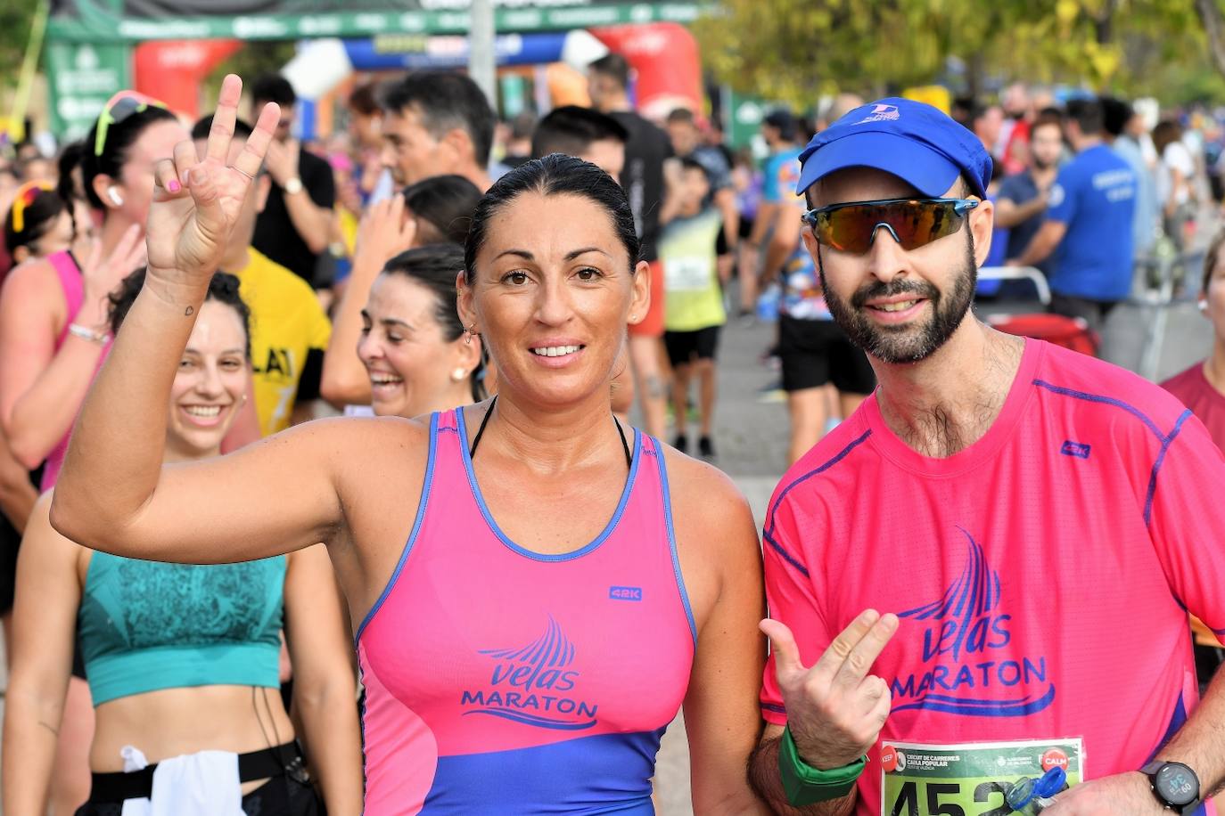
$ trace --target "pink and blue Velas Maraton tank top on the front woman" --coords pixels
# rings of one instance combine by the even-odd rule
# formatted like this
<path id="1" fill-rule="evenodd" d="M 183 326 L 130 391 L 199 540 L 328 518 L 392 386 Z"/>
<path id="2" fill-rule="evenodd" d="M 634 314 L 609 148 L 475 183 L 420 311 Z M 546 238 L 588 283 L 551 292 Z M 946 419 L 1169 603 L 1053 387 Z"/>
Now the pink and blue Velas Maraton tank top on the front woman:
<path id="1" fill-rule="evenodd" d="M 412 533 L 356 632 L 366 816 L 653 814 L 696 628 L 660 444 L 604 531 L 550 555 L 485 506 L 462 412 L 430 421 Z"/>

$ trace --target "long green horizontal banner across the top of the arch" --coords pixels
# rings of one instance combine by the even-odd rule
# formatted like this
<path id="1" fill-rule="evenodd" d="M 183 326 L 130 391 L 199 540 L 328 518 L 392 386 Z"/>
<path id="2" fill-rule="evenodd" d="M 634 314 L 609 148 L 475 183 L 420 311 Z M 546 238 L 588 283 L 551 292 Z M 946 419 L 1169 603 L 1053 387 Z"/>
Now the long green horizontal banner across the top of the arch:
<path id="1" fill-rule="evenodd" d="M 566 31 L 620 23 L 680 22 L 697 18 L 702 4 L 621 2 L 543 9 L 497 9 L 499 33 Z M 217 15 L 136 17 L 81 2 L 78 15 L 53 15 L 53 40 L 135 43 L 151 39 L 301 39 L 375 34 L 467 33 L 467 11 L 334 11 L 311 15 Z"/>

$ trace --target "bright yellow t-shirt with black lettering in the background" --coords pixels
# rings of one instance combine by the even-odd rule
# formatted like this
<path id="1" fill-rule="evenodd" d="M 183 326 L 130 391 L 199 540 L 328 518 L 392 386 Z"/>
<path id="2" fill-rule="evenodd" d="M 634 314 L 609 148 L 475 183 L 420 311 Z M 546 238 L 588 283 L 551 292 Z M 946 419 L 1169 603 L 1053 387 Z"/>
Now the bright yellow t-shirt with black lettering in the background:
<path id="1" fill-rule="evenodd" d="M 251 310 L 255 410 L 260 415 L 260 432 L 268 436 L 289 427 L 303 369 L 314 356 L 311 367 L 314 377 L 318 376 L 332 324 L 310 284 L 255 248 L 247 252 L 246 268 L 233 274 L 238 275 L 239 294 Z M 317 388 L 315 383 L 312 389 Z"/>

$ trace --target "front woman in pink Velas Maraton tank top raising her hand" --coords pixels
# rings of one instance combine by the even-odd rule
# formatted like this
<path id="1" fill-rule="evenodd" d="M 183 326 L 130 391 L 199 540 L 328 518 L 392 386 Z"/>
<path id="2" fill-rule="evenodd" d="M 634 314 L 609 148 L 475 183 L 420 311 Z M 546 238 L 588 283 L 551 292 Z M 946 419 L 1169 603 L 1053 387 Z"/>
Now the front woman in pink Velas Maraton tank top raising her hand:
<path id="1" fill-rule="evenodd" d="M 746 778 L 764 658 L 752 516 L 720 472 L 612 417 L 649 272 L 595 165 L 529 161 L 473 217 L 459 314 L 497 366 L 496 400 L 428 423 L 312 422 L 162 470 L 217 236 L 279 116 L 266 106 L 227 166 L 240 94 L 227 77 L 203 160 L 157 169 L 145 291 L 82 412 L 53 525 L 191 563 L 326 542 L 360 621 L 368 816 L 649 814 L 681 706 L 695 811 L 764 812 Z"/>

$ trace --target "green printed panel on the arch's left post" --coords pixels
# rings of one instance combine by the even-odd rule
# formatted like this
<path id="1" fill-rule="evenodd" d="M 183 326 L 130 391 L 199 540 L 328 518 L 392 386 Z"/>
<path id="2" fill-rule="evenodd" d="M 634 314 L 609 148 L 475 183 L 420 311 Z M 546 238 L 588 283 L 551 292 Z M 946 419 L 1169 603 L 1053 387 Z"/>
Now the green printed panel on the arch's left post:
<path id="1" fill-rule="evenodd" d="M 131 49 L 124 44 L 47 44 L 51 130 L 76 139 L 102 113 L 107 100 L 130 88 Z"/>

